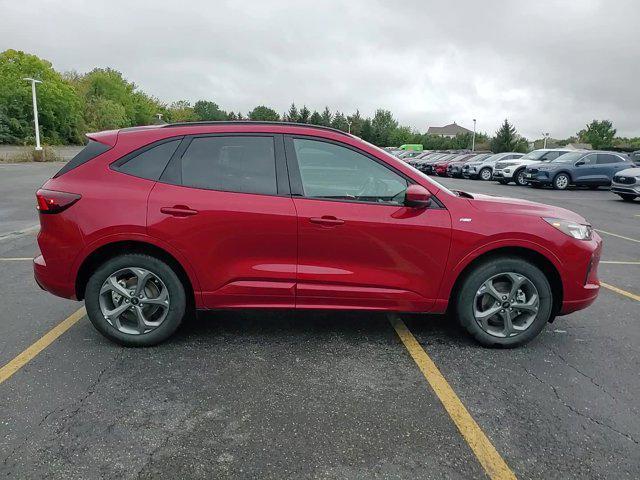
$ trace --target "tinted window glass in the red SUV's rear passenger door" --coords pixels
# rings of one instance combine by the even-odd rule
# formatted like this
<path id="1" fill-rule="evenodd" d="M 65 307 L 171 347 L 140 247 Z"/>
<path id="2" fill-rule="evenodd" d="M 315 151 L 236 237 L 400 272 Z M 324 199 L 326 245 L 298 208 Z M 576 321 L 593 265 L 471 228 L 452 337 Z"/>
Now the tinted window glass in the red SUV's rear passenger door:
<path id="1" fill-rule="evenodd" d="M 196 137 L 182 155 L 181 168 L 187 187 L 278 193 L 272 136 Z"/>

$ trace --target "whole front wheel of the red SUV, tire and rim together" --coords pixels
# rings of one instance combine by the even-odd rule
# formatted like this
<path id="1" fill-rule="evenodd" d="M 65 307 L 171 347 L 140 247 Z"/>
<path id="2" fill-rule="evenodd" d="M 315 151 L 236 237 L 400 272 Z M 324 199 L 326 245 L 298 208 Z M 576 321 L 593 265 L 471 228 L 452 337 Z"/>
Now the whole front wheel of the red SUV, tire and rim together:
<path id="1" fill-rule="evenodd" d="M 456 312 L 482 345 L 516 347 L 534 339 L 549 321 L 553 296 L 545 274 L 518 257 L 494 258 L 463 280 Z"/>

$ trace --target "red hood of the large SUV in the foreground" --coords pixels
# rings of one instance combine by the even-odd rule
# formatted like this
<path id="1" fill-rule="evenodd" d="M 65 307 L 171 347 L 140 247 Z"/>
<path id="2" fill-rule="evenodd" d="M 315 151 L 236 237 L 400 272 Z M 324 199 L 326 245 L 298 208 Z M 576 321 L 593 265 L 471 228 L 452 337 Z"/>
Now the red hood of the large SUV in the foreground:
<path id="1" fill-rule="evenodd" d="M 473 199 L 469 199 L 469 203 L 474 208 L 484 212 L 561 218 L 572 222 L 589 223 L 581 215 L 566 208 L 530 202 L 529 200 L 519 198 L 498 197 L 479 193 L 472 193 L 470 195 L 473 196 Z"/>

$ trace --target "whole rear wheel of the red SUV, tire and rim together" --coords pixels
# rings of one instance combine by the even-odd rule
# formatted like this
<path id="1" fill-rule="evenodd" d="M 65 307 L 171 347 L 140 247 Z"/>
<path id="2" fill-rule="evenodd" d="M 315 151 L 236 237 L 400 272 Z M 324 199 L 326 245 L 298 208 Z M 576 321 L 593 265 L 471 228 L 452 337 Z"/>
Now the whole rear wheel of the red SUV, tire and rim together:
<path id="1" fill-rule="evenodd" d="M 128 347 L 156 345 L 180 326 L 184 285 L 163 261 L 143 254 L 107 260 L 89 278 L 87 314 L 108 339 Z"/>

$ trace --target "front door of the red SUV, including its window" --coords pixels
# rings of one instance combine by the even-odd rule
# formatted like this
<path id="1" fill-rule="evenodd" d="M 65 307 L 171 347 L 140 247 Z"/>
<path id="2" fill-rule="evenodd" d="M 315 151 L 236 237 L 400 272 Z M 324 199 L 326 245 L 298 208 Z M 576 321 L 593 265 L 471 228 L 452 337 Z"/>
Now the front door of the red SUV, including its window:
<path id="1" fill-rule="evenodd" d="M 403 204 L 408 177 L 372 152 L 285 137 L 298 214 L 296 305 L 428 311 L 447 261 L 449 213 Z"/>

